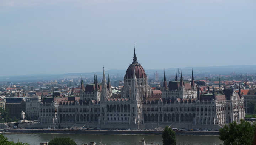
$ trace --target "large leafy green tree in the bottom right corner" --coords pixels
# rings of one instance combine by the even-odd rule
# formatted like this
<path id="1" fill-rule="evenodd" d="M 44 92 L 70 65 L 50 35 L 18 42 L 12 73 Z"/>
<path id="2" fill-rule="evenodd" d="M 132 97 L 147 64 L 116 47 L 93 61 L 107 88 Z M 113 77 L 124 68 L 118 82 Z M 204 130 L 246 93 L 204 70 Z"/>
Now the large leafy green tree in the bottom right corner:
<path id="1" fill-rule="evenodd" d="M 256 123 L 251 125 L 250 122 L 240 120 L 240 124 L 235 121 L 225 125 L 219 130 L 219 139 L 223 141 L 223 145 L 252 145 Z"/>

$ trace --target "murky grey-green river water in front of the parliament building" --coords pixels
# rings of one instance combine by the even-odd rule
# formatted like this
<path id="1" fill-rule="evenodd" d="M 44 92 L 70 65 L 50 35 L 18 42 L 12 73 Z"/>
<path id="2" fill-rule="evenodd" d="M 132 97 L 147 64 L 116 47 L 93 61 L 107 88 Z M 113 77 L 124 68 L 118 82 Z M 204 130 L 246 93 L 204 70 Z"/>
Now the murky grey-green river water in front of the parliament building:
<path id="1" fill-rule="evenodd" d="M 106 145 L 138 145 L 142 138 L 148 144 L 162 145 L 161 135 L 101 135 L 101 134 L 42 134 L 42 133 L 3 133 L 8 139 L 14 138 L 17 143 L 18 139 L 22 143 L 29 143 L 31 145 L 39 145 L 40 143 L 50 141 L 55 137 L 70 137 L 78 145 L 89 144 L 96 142 L 99 145 L 101 142 Z M 177 145 L 219 145 L 222 141 L 219 136 L 184 136 L 176 135 Z"/>

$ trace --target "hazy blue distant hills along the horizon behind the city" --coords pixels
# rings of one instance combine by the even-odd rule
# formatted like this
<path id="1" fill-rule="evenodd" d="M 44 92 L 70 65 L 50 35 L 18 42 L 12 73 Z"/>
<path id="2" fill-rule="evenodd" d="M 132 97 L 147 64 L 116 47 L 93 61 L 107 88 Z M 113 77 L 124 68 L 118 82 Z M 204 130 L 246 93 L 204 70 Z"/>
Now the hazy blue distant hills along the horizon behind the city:
<path id="1" fill-rule="evenodd" d="M 205 66 L 205 67 L 186 67 L 181 68 L 182 75 L 191 75 L 192 69 L 194 75 L 205 75 L 205 74 L 219 74 L 219 75 L 228 75 L 232 72 L 236 74 L 255 74 L 256 65 L 234 65 L 234 66 Z M 165 69 L 166 75 L 175 75 L 176 68 Z M 177 69 L 177 73 L 178 73 Z M 154 73 L 158 72 L 159 75 L 164 74 L 164 69 L 148 69 L 145 70 L 148 76 L 153 76 Z M 125 75 L 126 70 L 107 70 L 105 71 L 106 75 L 122 77 Z M 80 78 L 83 77 L 93 77 L 94 73 L 97 73 L 98 77 L 102 77 L 102 72 L 88 72 L 88 73 L 68 73 L 68 74 L 31 74 L 31 75 L 20 75 L 20 76 L 0 76 L 0 82 L 10 81 L 10 82 L 21 82 L 21 81 L 47 81 L 50 79 L 66 79 L 66 78 Z"/>

